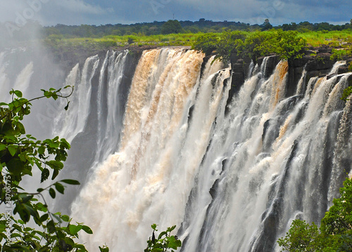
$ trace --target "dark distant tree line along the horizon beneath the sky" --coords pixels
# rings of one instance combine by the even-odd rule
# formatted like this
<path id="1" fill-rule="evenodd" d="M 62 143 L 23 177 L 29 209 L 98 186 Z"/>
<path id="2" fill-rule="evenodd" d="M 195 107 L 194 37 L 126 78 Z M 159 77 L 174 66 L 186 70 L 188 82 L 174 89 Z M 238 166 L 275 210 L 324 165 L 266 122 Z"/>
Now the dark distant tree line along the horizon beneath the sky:
<path id="1" fill-rule="evenodd" d="M 132 25 L 55 25 L 51 27 L 44 27 L 42 34 L 47 37 L 51 34 L 62 34 L 65 38 L 73 37 L 94 37 L 101 38 L 109 35 L 125 36 L 125 35 L 158 35 L 164 34 L 165 24 L 169 27 L 178 27 L 177 31 L 169 33 L 209 33 L 215 32 L 220 33 L 223 29 L 230 29 L 231 31 L 243 31 L 253 32 L 257 30 L 268 30 L 268 29 L 282 29 L 284 31 L 297 31 L 302 32 L 332 32 L 332 31 L 345 31 L 352 29 L 352 24 L 346 23 L 345 25 L 331 25 L 327 22 L 310 23 L 300 22 L 296 24 L 283 24 L 273 27 L 268 19 L 263 20 L 263 24 L 250 25 L 244 22 L 233 22 L 233 21 L 222 21 L 215 22 L 212 20 L 205 20 L 204 18 L 198 21 L 177 21 L 168 20 L 167 22 L 143 22 Z M 35 24 L 34 24 L 35 25 Z M 163 28 L 164 27 L 164 28 Z M 349 31 L 351 33 L 351 31 Z"/>

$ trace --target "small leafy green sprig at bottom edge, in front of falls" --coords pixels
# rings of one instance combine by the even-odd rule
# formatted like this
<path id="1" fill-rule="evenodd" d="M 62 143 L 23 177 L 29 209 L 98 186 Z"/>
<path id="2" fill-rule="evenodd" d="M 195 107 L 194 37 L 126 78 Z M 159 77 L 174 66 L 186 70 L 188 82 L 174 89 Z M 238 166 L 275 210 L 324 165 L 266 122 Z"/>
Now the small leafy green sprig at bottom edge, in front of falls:
<path id="1" fill-rule="evenodd" d="M 153 229 L 153 234 L 146 241 L 148 246 L 144 249 L 144 252 L 175 252 L 173 249 L 182 246 L 182 242 L 177 238 L 177 236 L 171 235 L 172 230 L 175 230 L 176 226 L 168 227 L 166 231 L 161 232 L 156 238 L 156 224 L 151 225 Z M 171 250 L 169 250 L 171 248 Z"/>

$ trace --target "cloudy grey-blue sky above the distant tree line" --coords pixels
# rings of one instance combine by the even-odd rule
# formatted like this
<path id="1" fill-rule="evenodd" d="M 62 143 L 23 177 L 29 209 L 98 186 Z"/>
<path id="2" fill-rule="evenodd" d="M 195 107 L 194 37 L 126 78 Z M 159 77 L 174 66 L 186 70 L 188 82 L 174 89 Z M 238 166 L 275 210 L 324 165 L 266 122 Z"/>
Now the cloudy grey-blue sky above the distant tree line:
<path id="1" fill-rule="evenodd" d="M 291 22 L 345 24 L 351 0 L 0 0 L 0 22 L 23 25 L 106 25 L 170 19 L 236 21 L 272 25 Z"/>

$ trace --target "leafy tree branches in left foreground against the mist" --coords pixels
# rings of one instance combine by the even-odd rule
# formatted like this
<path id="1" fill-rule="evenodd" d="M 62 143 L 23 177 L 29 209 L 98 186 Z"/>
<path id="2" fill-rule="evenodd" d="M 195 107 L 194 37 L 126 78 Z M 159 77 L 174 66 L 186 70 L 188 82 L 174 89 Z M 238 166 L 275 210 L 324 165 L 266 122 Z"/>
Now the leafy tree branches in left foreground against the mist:
<path id="1" fill-rule="evenodd" d="M 92 234 L 92 230 L 82 223 L 72 223 L 68 215 L 51 213 L 44 197 L 49 192 L 50 197 L 55 198 L 56 192 L 64 193 L 65 185 L 80 183 L 60 180 L 48 187 L 38 188 L 37 192 L 25 192 L 21 187 L 24 176 L 32 176 L 33 168 L 41 172 L 41 183 L 50 175 L 54 180 L 63 168 L 67 150 L 70 149 L 70 144 L 63 138 L 37 140 L 32 135 L 26 135 L 21 121 L 30 114 L 31 102 L 40 98 L 67 99 L 70 94 L 63 95 L 61 89 L 54 88 L 32 100 L 23 98 L 20 91 L 12 90 L 10 94 L 10 103 L 0 103 L 0 204 L 6 208 L 6 213 L 0 214 L 0 241 L 4 240 L 0 250 L 87 251 L 83 244 L 74 239 L 80 230 L 88 234 Z M 37 228 L 28 225 L 30 220 Z"/>

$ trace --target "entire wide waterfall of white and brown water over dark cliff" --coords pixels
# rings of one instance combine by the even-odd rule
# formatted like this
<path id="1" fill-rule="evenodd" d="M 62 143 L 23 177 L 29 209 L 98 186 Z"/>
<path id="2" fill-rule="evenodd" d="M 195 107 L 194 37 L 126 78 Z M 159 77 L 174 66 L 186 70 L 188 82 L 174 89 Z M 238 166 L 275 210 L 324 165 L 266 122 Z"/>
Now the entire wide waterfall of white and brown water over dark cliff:
<path id="1" fill-rule="evenodd" d="M 182 251 L 278 251 L 291 220 L 320 222 L 352 168 L 344 62 L 329 78 L 305 69 L 286 97 L 287 62 L 270 75 L 265 58 L 229 103 L 231 70 L 218 60 L 201 71 L 202 53 L 154 49 L 134 71 L 132 54 L 73 67 L 70 108 L 54 121 L 73 146 L 61 176 L 83 184 L 66 204 L 92 227 L 80 236 L 90 251 L 142 251 L 153 223 L 177 225 Z M 33 66 L 21 71 L 30 79 Z"/>

